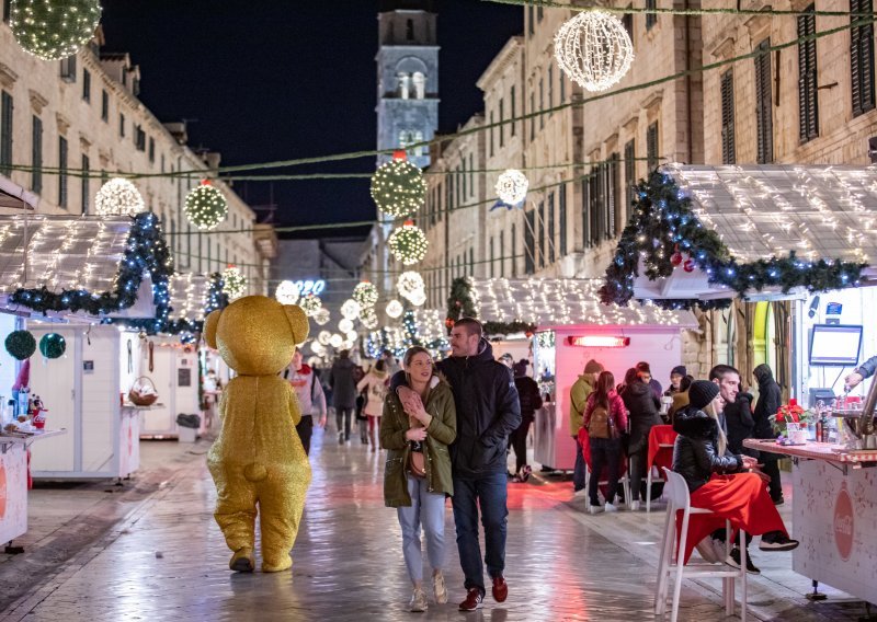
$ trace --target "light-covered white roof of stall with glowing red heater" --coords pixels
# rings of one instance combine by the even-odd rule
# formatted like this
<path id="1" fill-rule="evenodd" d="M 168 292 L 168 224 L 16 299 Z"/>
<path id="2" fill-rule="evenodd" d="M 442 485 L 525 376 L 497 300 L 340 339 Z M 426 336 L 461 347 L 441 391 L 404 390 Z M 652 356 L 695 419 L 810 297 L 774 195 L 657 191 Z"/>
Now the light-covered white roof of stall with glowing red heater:
<path id="1" fill-rule="evenodd" d="M 563 325 L 667 325 L 696 329 L 690 311 L 665 311 L 653 304 L 603 304 L 599 279 L 474 279 L 471 291 L 478 318 L 515 321 L 539 327 Z"/>

